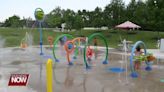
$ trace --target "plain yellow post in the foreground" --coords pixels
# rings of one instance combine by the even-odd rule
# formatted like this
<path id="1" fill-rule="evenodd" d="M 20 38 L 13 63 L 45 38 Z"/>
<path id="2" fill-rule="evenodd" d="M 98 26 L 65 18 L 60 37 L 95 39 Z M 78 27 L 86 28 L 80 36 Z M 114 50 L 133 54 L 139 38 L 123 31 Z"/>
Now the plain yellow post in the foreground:
<path id="1" fill-rule="evenodd" d="M 48 59 L 46 64 L 47 92 L 52 92 L 52 60 Z"/>

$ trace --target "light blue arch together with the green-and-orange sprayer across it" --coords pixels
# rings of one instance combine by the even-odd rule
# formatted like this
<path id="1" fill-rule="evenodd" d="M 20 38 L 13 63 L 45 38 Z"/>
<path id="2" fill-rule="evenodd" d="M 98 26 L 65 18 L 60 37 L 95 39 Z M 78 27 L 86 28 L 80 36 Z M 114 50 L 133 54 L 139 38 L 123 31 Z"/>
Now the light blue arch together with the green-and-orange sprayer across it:
<path id="1" fill-rule="evenodd" d="M 139 45 L 143 45 L 144 47 L 144 55 L 141 55 L 141 56 L 134 56 L 134 52 L 136 50 L 136 48 L 139 46 Z M 143 41 L 138 41 L 134 44 L 133 48 L 132 48 L 132 51 L 131 51 L 131 56 L 130 56 L 130 69 L 131 69 L 131 77 L 132 78 L 137 78 L 138 77 L 138 73 L 134 67 L 134 62 L 135 60 L 139 60 L 139 61 L 145 61 L 146 63 L 146 68 L 145 70 L 146 71 L 151 71 L 152 68 L 151 68 L 151 61 L 154 60 L 155 57 L 153 57 L 151 54 L 148 54 L 147 53 L 147 50 L 146 50 L 146 45 Z"/>

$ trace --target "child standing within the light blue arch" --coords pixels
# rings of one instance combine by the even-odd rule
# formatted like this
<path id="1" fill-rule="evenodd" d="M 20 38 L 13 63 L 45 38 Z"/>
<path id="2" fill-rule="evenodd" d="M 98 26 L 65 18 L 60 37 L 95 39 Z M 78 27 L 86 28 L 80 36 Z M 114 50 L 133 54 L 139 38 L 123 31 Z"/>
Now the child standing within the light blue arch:
<path id="1" fill-rule="evenodd" d="M 136 51 L 135 51 L 135 56 L 140 56 L 140 55 L 142 55 L 142 51 L 141 51 L 141 48 L 140 48 L 140 46 L 138 46 L 137 48 L 136 48 Z M 139 61 L 139 60 L 136 60 L 135 61 L 135 64 L 134 64 L 134 68 L 135 69 L 140 69 L 140 65 L 141 65 L 141 62 Z"/>

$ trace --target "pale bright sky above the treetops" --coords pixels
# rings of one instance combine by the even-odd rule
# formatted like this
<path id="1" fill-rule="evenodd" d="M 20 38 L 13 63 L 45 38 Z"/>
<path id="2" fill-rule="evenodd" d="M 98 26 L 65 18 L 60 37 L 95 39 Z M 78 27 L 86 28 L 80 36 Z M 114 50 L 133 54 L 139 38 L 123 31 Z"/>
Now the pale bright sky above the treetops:
<path id="1" fill-rule="evenodd" d="M 48 14 L 56 7 L 62 9 L 94 10 L 97 6 L 104 8 L 111 0 L 0 0 L 0 22 L 13 15 L 34 19 L 36 8 L 42 8 Z M 123 0 L 126 4 L 130 0 Z"/>

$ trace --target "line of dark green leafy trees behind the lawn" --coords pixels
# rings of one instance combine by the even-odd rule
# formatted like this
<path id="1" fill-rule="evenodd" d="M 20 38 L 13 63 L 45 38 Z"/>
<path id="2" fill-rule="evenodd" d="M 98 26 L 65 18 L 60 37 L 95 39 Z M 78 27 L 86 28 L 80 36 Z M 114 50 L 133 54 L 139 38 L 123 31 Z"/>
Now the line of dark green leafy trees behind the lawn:
<path id="1" fill-rule="evenodd" d="M 44 26 L 54 28 L 66 23 L 66 29 L 70 30 L 103 26 L 113 28 L 127 20 L 140 25 L 143 30 L 164 31 L 164 0 L 131 0 L 128 5 L 122 0 L 111 0 L 104 9 L 96 7 L 93 11 L 83 9 L 75 12 L 57 7 L 45 16 Z M 34 20 L 30 18 L 21 20 L 14 15 L 6 19 L 2 26 L 30 27 L 32 23 Z"/>

